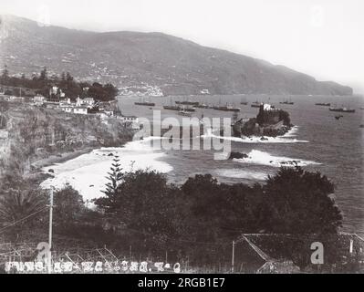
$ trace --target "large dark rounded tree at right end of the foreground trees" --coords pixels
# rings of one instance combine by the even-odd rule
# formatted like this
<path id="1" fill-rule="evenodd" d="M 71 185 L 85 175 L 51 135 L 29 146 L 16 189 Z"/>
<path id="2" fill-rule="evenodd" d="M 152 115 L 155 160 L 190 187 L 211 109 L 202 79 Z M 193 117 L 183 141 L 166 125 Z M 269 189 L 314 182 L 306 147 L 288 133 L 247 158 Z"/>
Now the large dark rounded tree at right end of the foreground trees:
<path id="1" fill-rule="evenodd" d="M 264 186 L 269 221 L 273 233 L 336 233 L 342 215 L 330 197 L 334 184 L 319 172 L 300 167 L 281 168 L 269 176 Z"/>

